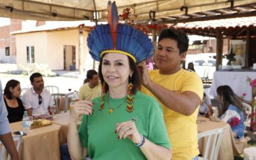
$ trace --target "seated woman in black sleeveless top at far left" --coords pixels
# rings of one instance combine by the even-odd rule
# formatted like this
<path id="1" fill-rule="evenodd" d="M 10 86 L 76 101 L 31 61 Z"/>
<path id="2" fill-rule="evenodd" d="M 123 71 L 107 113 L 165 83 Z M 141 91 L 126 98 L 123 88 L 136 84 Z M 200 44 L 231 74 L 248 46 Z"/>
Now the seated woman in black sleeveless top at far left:
<path id="1" fill-rule="evenodd" d="M 20 82 L 11 79 L 4 88 L 4 103 L 8 111 L 9 123 L 22 120 L 24 115 L 24 106 L 20 100 Z"/>

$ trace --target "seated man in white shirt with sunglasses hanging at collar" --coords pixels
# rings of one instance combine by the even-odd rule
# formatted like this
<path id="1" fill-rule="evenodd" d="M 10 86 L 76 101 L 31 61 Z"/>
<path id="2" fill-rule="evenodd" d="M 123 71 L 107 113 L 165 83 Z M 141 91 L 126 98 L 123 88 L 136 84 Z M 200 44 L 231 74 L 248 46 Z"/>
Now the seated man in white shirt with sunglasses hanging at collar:
<path id="1" fill-rule="evenodd" d="M 29 116 L 35 118 L 45 118 L 49 116 L 49 106 L 54 105 L 51 93 L 44 88 L 44 79 L 42 74 L 34 73 L 29 77 L 31 89 L 22 96 L 24 108 Z"/>

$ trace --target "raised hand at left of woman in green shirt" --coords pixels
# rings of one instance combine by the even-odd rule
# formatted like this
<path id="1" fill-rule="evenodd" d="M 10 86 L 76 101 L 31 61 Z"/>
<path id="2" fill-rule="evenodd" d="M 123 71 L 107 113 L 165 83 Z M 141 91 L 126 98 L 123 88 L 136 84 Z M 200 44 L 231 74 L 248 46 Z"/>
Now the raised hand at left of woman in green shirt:
<path id="1" fill-rule="evenodd" d="M 72 122 L 77 122 L 81 115 L 92 115 L 94 111 L 92 108 L 93 105 L 94 104 L 88 100 L 77 101 L 72 108 L 70 120 L 72 120 Z"/>

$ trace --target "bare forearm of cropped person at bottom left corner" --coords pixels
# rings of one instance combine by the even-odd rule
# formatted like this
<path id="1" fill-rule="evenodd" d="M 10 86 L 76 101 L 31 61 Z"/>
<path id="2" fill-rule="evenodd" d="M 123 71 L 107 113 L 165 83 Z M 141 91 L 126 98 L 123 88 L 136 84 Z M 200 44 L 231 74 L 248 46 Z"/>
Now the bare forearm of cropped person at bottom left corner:
<path id="1" fill-rule="evenodd" d="M 6 134 L 0 135 L 0 141 L 2 141 L 7 152 L 10 154 L 12 160 L 19 160 L 19 155 L 13 142 L 12 133 L 8 132 Z"/>

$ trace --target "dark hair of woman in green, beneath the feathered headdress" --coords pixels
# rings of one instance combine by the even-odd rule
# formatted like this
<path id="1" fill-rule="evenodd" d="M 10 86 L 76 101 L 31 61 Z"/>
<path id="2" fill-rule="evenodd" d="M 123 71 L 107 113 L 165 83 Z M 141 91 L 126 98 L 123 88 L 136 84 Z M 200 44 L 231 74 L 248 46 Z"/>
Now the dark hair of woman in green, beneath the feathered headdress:
<path id="1" fill-rule="evenodd" d="M 103 83 L 105 82 L 104 81 L 104 78 L 103 78 L 103 75 L 102 75 L 102 60 L 104 58 L 106 54 L 104 54 L 102 56 L 102 58 L 100 59 L 100 64 L 99 64 L 99 79 L 101 80 L 101 84 L 103 86 Z M 141 86 L 141 81 L 140 81 L 140 72 L 137 68 L 137 65 L 136 63 L 132 60 L 132 58 L 130 58 L 129 56 L 128 57 L 128 60 L 129 60 L 129 66 L 131 68 L 131 70 L 133 71 L 133 74 L 132 74 L 132 77 L 131 79 L 129 79 L 129 83 L 132 83 L 133 84 L 133 88 L 131 90 L 132 94 L 135 94 L 138 90 L 140 90 L 140 86 Z M 109 86 L 107 83 L 106 84 L 106 92 L 108 92 L 109 90 Z"/>

